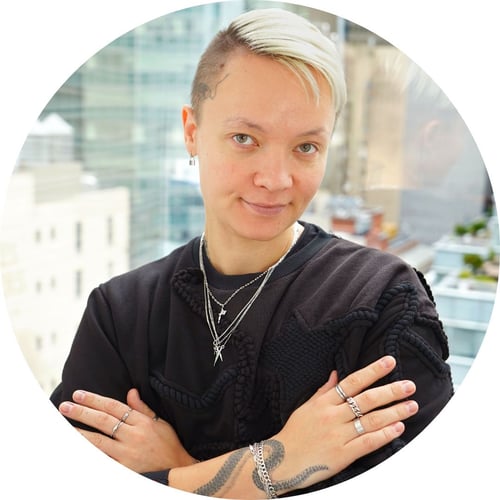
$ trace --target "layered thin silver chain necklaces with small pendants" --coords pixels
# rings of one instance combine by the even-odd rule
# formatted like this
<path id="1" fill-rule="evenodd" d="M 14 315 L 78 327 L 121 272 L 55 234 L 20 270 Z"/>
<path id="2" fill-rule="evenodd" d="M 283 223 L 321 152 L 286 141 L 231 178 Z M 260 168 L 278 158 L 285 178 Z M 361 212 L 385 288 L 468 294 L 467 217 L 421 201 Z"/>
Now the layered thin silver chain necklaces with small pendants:
<path id="1" fill-rule="evenodd" d="M 238 325 L 241 323 L 243 318 L 245 317 L 246 313 L 252 307 L 252 304 L 257 300 L 257 297 L 261 294 L 262 290 L 264 289 L 264 286 L 266 283 L 269 281 L 269 278 L 271 277 L 271 274 L 273 271 L 283 262 L 285 257 L 289 254 L 290 250 L 293 248 L 297 240 L 299 239 L 300 233 L 302 230 L 302 226 L 296 222 L 293 228 L 293 240 L 291 245 L 289 246 L 288 250 L 280 257 L 280 259 L 275 262 L 272 266 L 270 266 L 268 269 L 266 269 L 264 272 L 260 273 L 256 277 L 252 278 L 250 281 L 245 283 L 244 285 L 240 286 L 238 289 L 236 289 L 225 302 L 220 302 L 217 300 L 217 298 L 214 296 L 212 291 L 210 290 L 210 287 L 208 285 L 208 279 L 207 279 L 207 273 L 205 271 L 205 264 L 203 262 L 203 247 L 205 246 L 205 233 L 201 235 L 200 238 L 200 246 L 199 246 L 199 259 L 200 259 L 200 269 L 203 274 L 203 295 L 205 299 L 205 318 L 207 320 L 208 328 L 210 330 L 210 334 L 212 335 L 212 341 L 213 341 L 213 349 L 214 349 L 214 366 L 216 365 L 217 361 L 222 361 L 222 351 L 226 347 L 227 342 L 231 338 L 231 335 L 233 332 L 236 330 Z M 256 283 L 258 280 L 262 278 L 262 281 L 260 285 L 258 286 L 257 290 L 255 293 L 250 297 L 250 299 L 247 301 L 247 303 L 241 308 L 241 310 L 236 314 L 234 317 L 233 321 L 220 333 L 218 332 L 218 325 L 220 325 L 221 319 L 223 316 L 226 315 L 227 309 L 226 306 L 227 304 L 242 290 L 247 288 L 250 285 L 253 285 Z M 212 308 L 212 301 L 219 306 L 219 312 L 217 314 L 217 323 L 215 322 L 215 316 L 214 316 L 214 311 Z"/>

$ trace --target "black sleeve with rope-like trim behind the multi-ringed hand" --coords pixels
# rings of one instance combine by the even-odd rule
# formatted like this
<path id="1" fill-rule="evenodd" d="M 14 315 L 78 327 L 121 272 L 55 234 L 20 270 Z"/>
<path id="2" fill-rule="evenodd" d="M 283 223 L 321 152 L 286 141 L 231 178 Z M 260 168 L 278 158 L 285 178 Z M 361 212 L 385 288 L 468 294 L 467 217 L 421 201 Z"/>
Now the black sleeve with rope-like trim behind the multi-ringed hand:
<path id="1" fill-rule="evenodd" d="M 335 476 L 335 483 L 372 468 L 408 444 L 429 425 L 453 396 L 448 342 L 435 309 L 430 288 L 419 273 L 386 290 L 377 304 L 378 320 L 370 328 L 361 349 L 349 354 L 352 372 L 384 354 L 396 359 L 396 368 L 376 385 L 412 380 L 419 411 L 405 421 L 400 439 L 367 455 Z M 347 368 L 347 367 L 346 367 Z M 342 377 L 341 377 L 342 378 Z"/>

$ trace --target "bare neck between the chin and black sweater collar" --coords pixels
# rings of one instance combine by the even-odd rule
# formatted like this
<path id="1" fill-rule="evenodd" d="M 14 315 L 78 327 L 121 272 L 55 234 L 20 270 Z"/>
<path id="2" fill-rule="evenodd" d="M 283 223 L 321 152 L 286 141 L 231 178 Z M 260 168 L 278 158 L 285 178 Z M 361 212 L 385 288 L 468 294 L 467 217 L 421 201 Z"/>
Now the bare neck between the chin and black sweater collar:
<path id="1" fill-rule="evenodd" d="M 298 225 L 300 232 L 302 226 Z M 242 240 L 227 241 L 206 233 L 205 249 L 212 266 L 222 274 L 240 275 L 266 271 L 276 264 L 291 249 L 300 235 L 295 225 L 285 230 L 273 241 Z M 222 244 L 221 244 L 222 242 Z"/>

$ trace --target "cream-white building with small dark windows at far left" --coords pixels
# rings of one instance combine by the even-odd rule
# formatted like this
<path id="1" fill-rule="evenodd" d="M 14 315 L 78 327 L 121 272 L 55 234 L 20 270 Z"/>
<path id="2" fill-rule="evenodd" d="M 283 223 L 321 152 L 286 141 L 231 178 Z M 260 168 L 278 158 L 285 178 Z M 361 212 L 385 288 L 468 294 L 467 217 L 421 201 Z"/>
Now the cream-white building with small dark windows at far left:
<path id="1" fill-rule="evenodd" d="M 88 294 L 129 268 L 126 188 L 93 189 L 72 158 L 71 127 L 33 127 L 11 176 L 0 272 L 12 329 L 42 388 L 61 376 Z"/>

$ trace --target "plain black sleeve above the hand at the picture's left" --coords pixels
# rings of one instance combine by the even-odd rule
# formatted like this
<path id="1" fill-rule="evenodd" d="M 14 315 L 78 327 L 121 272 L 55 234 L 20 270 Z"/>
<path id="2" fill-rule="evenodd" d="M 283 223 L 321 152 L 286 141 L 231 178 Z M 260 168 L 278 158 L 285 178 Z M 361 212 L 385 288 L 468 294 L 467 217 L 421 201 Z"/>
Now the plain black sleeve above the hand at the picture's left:
<path id="1" fill-rule="evenodd" d="M 63 401 L 71 401 L 75 390 L 83 389 L 126 401 L 131 387 L 112 312 L 101 288 L 96 288 L 89 296 L 63 368 L 61 383 L 50 399 L 59 406 Z"/>

